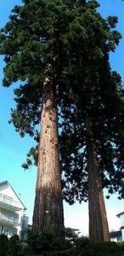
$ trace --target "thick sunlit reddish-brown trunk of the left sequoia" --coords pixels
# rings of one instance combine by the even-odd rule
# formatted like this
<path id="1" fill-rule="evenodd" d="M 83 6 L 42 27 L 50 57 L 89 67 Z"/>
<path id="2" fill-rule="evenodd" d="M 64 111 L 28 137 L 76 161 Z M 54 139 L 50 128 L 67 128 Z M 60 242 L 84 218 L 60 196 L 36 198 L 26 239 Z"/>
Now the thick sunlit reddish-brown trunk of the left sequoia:
<path id="1" fill-rule="evenodd" d="M 43 84 L 41 133 L 38 151 L 33 231 L 63 226 L 63 202 L 59 171 L 58 116 L 54 83 Z"/>

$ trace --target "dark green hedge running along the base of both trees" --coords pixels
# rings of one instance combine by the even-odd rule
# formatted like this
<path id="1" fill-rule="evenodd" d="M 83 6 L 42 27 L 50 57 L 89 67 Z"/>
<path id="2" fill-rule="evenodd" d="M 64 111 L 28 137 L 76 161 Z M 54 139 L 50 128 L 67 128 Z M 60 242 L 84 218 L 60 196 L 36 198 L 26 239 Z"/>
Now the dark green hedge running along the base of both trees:
<path id="1" fill-rule="evenodd" d="M 78 237 L 69 229 L 44 229 L 39 233 L 28 232 L 26 246 L 14 235 L 8 239 L 0 235 L 0 256 L 122 256 L 124 241 L 97 242 Z"/>

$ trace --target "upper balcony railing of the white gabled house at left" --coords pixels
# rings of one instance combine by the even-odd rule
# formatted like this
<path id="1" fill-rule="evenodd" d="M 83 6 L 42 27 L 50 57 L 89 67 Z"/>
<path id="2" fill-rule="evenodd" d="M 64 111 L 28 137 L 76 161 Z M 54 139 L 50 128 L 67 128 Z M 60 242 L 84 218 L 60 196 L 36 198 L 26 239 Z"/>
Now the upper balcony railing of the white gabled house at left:
<path id="1" fill-rule="evenodd" d="M 0 194 L 0 205 L 8 206 L 20 210 L 20 204 L 18 201 L 14 201 L 6 195 Z"/>

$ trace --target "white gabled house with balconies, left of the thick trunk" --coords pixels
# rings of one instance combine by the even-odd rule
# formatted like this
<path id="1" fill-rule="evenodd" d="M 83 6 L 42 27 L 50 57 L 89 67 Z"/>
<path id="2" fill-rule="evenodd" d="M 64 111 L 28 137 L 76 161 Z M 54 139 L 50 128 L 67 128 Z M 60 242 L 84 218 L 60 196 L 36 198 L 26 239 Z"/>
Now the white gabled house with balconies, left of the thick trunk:
<path id="1" fill-rule="evenodd" d="M 8 237 L 16 234 L 21 241 L 25 241 L 25 230 L 28 229 L 25 210 L 24 204 L 8 181 L 0 183 L 0 234 Z"/>

